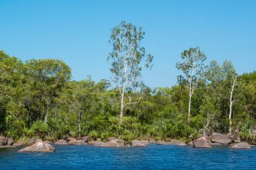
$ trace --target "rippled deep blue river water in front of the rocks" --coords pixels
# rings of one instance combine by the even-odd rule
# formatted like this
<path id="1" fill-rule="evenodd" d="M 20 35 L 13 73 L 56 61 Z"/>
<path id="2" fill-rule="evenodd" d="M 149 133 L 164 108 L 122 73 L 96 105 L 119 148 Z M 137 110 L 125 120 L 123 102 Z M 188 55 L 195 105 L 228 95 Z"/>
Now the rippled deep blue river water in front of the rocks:
<path id="1" fill-rule="evenodd" d="M 256 147 L 149 145 L 101 148 L 54 145 L 55 153 L 0 148 L 0 169 L 256 169 Z"/>

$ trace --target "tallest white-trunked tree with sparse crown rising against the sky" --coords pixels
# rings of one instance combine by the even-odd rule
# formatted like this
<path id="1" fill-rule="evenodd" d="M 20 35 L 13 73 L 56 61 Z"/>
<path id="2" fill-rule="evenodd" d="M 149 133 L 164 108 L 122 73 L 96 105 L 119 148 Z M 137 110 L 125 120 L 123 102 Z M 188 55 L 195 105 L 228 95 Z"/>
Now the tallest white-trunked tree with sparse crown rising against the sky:
<path id="1" fill-rule="evenodd" d="M 110 44 L 113 45 L 113 52 L 108 56 L 111 63 L 110 71 L 113 73 L 113 82 L 119 89 L 121 95 L 120 119 L 123 118 L 123 110 L 126 105 L 139 102 L 138 99 L 132 99 L 132 90 L 143 87 L 143 83 L 138 79 L 141 77 L 141 69 L 143 67 L 151 68 L 153 56 L 145 54 L 145 48 L 140 46 L 141 40 L 144 38 L 145 32 L 142 28 L 136 28 L 131 23 L 121 22 L 121 25 L 112 29 L 110 35 Z M 146 56 L 145 64 L 141 61 Z M 125 99 L 129 101 L 125 102 Z"/>

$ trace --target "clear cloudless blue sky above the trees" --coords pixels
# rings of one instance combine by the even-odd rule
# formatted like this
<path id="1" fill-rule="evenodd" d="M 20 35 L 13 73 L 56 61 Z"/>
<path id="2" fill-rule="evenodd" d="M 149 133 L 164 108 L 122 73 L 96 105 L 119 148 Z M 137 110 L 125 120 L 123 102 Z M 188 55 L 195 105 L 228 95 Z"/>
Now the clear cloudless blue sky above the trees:
<path id="1" fill-rule="evenodd" d="M 256 69 L 256 1 L 0 0 L 0 49 L 22 60 L 59 58 L 73 79 L 110 79 L 110 29 L 122 20 L 146 32 L 154 67 L 150 87 L 177 83 L 181 52 L 199 46 L 210 60 L 232 60 L 239 74 Z"/>

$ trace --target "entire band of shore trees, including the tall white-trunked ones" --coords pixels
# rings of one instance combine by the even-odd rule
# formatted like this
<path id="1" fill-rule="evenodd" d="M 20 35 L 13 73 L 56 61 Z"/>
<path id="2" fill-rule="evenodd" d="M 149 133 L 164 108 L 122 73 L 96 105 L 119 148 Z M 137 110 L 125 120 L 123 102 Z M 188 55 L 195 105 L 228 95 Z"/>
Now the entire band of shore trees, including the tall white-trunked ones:
<path id="1" fill-rule="evenodd" d="M 207 66 L 205 54 L 189 48 L 177 85 L 150 89 L 139 81 L 154 58 L 140 45 L 145 32 L 126 22 L 111 31 L 112 81 L 71 81 L 61 60 L 22 62 L 0 51 L 0 135 L 189 141 L 220 132 L 255 143 L 255 71 L 238 75 L 230 61 Z"/>

